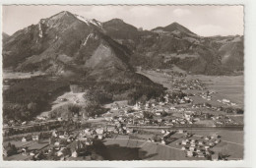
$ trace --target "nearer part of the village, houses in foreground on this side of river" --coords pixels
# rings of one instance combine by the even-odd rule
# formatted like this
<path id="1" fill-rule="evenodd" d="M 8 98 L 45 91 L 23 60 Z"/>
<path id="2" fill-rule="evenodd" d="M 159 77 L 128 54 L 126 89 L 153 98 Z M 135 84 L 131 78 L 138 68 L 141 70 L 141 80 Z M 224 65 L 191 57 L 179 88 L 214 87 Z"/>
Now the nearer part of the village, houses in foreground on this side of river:
<path id="1" fill-rule="evenodd" d="M 222 137 L 214 132 L 208 136 L 182 129 L 161 129 L 152 132 L 129 128 L 121 122 L 114 126 L 96 124 L 90 128 L 83 127 L 73 131 L 59 128 L 47 133 L 27 134 L 19 140 L 4 142 L 3 154 L 7 160 L 102 160 L 100 154 L 96 153 L 98 141 L 102 144 L 107 140 L 125 139 L 167 146 L 184 152 L 184 157 L 188 158 L 228 159 L 228 154 L 222 153 L 220 146 L 216 147 L 222 143 Z"/>

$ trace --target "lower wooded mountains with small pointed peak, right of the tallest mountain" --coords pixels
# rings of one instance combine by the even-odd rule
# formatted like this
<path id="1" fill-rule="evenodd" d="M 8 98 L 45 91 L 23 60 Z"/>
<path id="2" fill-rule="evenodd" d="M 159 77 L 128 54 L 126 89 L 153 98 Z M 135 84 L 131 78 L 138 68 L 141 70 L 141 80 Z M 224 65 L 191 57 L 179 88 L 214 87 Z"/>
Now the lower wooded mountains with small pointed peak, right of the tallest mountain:
<path id="1" fill-rule="evenodd" d="M 132 51 L 133 66 L 172 68 L 192 74 L 231 75 L 243 70 L 243 36 L 203 37 L 178 23 L 151 31 L 122 20 L 103 23 L 106 34 Z"/>

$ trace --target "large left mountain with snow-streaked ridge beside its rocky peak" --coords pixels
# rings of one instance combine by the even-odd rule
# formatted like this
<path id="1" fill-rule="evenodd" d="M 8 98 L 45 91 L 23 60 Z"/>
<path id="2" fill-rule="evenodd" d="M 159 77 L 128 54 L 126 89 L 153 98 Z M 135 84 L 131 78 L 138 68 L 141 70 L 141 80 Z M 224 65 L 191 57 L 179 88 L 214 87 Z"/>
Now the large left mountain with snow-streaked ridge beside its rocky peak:
<path id="1" fill-rule="evenodd" d="M 88 81 L 156 85 L 134 72 L 130 54 L 104 33 L 100 22 L 63 11 L 10 36 L 3 45 L 3 67 Z"/>

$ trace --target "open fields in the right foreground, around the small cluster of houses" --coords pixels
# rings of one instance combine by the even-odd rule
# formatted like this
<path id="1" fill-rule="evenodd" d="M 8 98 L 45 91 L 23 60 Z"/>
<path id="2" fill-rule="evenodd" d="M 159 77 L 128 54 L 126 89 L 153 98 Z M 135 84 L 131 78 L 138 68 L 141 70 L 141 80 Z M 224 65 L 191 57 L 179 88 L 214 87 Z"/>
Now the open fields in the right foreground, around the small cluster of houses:
<path id="1" fill-rule="evenodd" d="M 213 147 L 213 151 L 230 155 L 227 160 L 243 158 L 243 132 L 228 130 L 188 130 L 188 133 L 194 134 L 192 139 L 201 140 L 201 137 L 218 134 L 222 141 Z M 156 131 L 160 134 L 160 131 Z M 175 134 L 172 137 L 177 138 L 169 144 L 152 142 L 147 139 L 152 135 L 145 135 L 141 138 L 145 140 L 133 140 L 129 136 L 117 136 L 114 139 L 104 140 L 111 158 L 113 160 L 122 160 L 121 158 L 133 157 L 132 160 L 204 160 L 205 158 L 186 157 L 185 152 L 181 150 L 180 145 L 176 143 L 185 140 L 183 135 Z M 234 139 L 235 137 L 235 139 Z M 123 149 L 123 150 L 122 150 Z"/>

